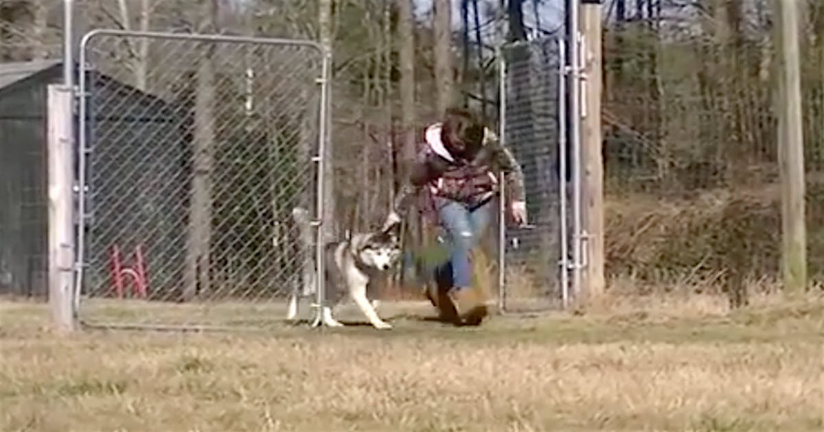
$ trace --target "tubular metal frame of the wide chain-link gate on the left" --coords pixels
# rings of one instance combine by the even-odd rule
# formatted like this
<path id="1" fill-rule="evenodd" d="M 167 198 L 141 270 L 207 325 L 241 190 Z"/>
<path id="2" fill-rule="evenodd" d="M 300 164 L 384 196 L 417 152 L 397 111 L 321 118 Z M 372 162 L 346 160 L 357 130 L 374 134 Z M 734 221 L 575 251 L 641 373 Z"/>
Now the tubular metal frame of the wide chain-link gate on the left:
<path id="1" fill-rule="evenodd" d="M 323 323 L 323 308 L 324 294 L 325 294 L 325 278 L 324 275 L 324 253 L 323 253 L 323 230 L 325 223 L 331 221 L 323 221 L 324 202 L 323 202 L 323 182 L 324 172 L 327 161 L 323 155 L 327 146 L 331 146 L 330 130 L 328 126 L 330 122 L 330 106 L 332 94 L 330 91 L 330 63 L 332 54 L 330 49 L 324 45 L 308 39 L 283 39 L 283 38 L 260 38 L 250 36 L 229 36 L 229 35 L 204 35 L 199 33 L 167 33 L 155 31 L 133 31 L 133 30 L 116 30 L 116 29 L 96 29 L 87 32 L 83 35 L 80 42 L 80 49 L 78 55 L 78 69 L 77 69 L 77 86 L 74 98 L 77 99 L 77 118 L 74 120 L 77 124 L 77 232 L 75 233 L 75 277 L 73 289 L 73 314 L 77 322 L 86 327 L 129 327 L 129 328 L 152 328 L 152 329 L 171 329 L 176 328 L 180 330 L 196 328 L 203 330 L 206 328 L 219 329 L 218 326 L 203 326 L 196 324 L 181 324 L 175 326 L 163 326 L 152 324 L 135 324 L 135 325 L 117 325 L 117 324 L 90 324 L 84 323 L 80 317 L 80 297 L 82 295 L 83 286 L 83 270 L 85 267 L 85 230 L 87 228 L 86 222 L 88 215 L 86 214 L 86 158 L 91 154 L 91 148 L 87 143 L 87 102 L 90 96 L 87 93 L 87 72 L 90 68 L 87 67 L 87 53 L 88 44 L 97 36 L 115 36 L 121 38 L 146 38 L 146 39 L 167 39 L 167 40 L 185 40 L 192 42 L 213 42 L 213 43 L 227 43 L 227 44 L 254 44 L 254 45 L 269 45 L 269 46 L 298 46 L 308 47 L 316 50 L 321 55 L 321 75 L 317 77 L 315 82 L 321 86 L 320 107 L 318 110 L 318 142 L 316 146 L 316 155 L 311 156 L 311 162 L 315 162 L 317 173 L 317 185 L 314 188 L 316 194 L 316 215 L 311 221 L 311 226 L 316 230 L 315 238 L 315 289 L 316 300 L 311 304 L 312 309 L 315 309 L 315 316 L 311 319 L 311 327 L 321 327 Z M 71 67 L 69 63 L 69 67 Z M 93 70 L 93 69 L 91 69 Z M 222 328 L 222 327 L 220 327 Z"/>

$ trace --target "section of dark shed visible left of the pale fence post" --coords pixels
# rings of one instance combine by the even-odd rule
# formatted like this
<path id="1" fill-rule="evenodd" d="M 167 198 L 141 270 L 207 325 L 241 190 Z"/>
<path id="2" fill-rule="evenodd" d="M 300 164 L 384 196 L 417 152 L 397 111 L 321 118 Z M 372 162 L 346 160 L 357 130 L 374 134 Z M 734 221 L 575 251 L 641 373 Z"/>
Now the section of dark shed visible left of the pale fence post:
<path id="1" fill-rule="evenodd" d="M 60 63 L 0 64 L 0 293 L 44 295 L 46 86 Z"/>

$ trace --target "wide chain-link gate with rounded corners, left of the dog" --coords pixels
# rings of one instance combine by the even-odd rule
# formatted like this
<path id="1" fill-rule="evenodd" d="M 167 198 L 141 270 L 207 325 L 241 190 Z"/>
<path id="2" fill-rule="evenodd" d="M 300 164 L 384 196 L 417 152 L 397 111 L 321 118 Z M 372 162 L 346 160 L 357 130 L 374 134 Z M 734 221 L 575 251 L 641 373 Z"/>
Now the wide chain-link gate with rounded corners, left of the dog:
<path id="1" fill-rule="evenodd" d="M 81 321 L 282 320 L 284 295 L 322 267 L 293 209 L 322 214 L 328 53 L 303 40 L 95 30 L 79 67 Z"/>

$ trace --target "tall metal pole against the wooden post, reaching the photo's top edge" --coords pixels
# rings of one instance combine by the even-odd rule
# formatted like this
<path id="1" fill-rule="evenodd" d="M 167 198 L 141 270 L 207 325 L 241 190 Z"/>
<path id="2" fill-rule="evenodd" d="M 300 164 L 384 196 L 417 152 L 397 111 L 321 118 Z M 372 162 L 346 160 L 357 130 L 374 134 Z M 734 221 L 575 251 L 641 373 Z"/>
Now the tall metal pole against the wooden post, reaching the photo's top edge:
<path id="1" fill-rule="evenodd" d="M 573 295 L 581 295 L 582 232 L 581 232 L 581 64 L 578 50 L 578 0 L 567 0 L 569 12 L 569 85 L 572 97 L 569 100 L 570 139 L 572 140 L 573 170 Z"/>

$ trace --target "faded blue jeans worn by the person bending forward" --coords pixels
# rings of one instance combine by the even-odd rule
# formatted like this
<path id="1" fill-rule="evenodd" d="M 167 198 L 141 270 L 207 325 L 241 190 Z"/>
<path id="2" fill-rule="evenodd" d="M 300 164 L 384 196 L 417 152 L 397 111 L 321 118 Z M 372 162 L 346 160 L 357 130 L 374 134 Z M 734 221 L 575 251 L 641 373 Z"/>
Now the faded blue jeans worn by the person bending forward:
<path id="1" fill-rule="evenodd" d="M 480 207 L 469 209 L 461 202 L 435 197 L 434 204 L 438 210 L 438 222 L 446 231 L 449 242 L 449 260 L 435 269 L 439 285 L 446 283 L 452 271 L 452 283 L 458 289 L 472 285 L 472 266 L 469 256 L 472 248 L 478 244 L 492 216 L 492 203 L 485 202 Z"/>

